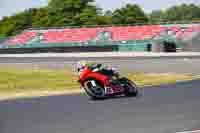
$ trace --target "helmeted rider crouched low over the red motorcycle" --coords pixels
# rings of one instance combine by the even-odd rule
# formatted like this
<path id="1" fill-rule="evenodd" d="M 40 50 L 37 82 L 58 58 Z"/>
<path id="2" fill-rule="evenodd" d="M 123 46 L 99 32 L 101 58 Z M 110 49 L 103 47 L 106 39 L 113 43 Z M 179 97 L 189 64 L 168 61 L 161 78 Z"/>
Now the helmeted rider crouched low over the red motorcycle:
<path id="1" fill-rule="evenodd" d="M 89 61 L 79 61 L 77 63 L 78 72 L 82 72 L 85 67 L 92 69 L 94 72 L 100 72 L 104 75 L 113 76 L 113 74 L 118 75 L 114 68 L 109 68 L 108 66 L 103 66 L 102 64 L 89 62 Z"/>

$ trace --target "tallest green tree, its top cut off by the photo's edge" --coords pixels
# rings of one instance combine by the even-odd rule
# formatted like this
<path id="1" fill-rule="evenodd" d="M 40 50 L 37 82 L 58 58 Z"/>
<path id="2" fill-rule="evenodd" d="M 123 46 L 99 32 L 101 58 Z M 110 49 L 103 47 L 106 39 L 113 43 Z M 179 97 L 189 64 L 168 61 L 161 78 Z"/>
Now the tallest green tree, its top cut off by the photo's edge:
<path id="1" fill-rule="evenodd" d="M 51 26 L 80 26 L 88 19 L 93 22 L 97 8 L 90 5 L 91 2 L 93 0 L 51 0 L 48 5 Z"/>

